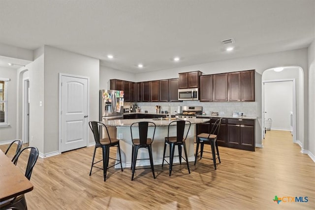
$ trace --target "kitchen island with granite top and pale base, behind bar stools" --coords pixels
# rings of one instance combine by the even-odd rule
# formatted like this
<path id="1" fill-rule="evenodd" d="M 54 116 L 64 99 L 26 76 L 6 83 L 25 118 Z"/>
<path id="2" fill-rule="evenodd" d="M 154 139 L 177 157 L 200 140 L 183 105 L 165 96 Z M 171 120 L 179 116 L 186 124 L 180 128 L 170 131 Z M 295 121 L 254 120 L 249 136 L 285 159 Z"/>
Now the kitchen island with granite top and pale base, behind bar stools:
<path id="1" fill-rule="evenodd" d="M 120 139 L 120 148 L 122 155 L 122 164 L 123 167 L 131 166 L 131 150 L 132 150 L 132 141 L 131 141 L 131 133 L 130 133 L 130 125 L 133 122 L 139 121 L 151 121 L 156 124 L 156 132 L 154 136 L 154 141 L 152 143 L 152 154 L 153 154 L 153 162 L 154 165 L 162 164 L 163 160 L 163 149 L 164 149 L 164 138 L 167 137 L 168 132 L 168 124 L 174 120 L 165 120 L 165 119 L 130 119 L 130 120 L 106 120 L 103 123 L 106 126 L 114 126 L 117 128 L 117 138 Z M 194 138 L 195 138 L 195 127 L 197 123 L 201 123 L 204 121 L 208 121 L 207 119 L 189 119 L 191 126 L 189 129 L 188 137 L 186 140 L 187 154 L 188 160 L 194 161 Z M 189 125 L 186 125 L 186 129 L 188 129 Z M 138 138 L 138 132 L 136 131 L 138 127 L 132 127 L 133 138 Z M 187 130 L 185 129 L 185 135 Z M 150 126 L 148 129 L 148 138 L 152 138 L 154 131 L 154 127 Z M 170 127 L 170 136 L 176 136 L 176 126 Z M 119 159 L 118 152 L 117 159 Z M 168 156 L 169 148 L 167 147 L 165 155 Z M 183 153 L 184 154 L 184 153 Z M 175 155 L 178 155 L 178 150 L 175 150 Z M 138 158 L 149 158 L 148 150 L 140 149 L 138 151 Z M 174 157 L 174 163 L 179 163 L 179 158 Z M 136 166 L 149 166 L 149 160 L 138 160 Z M 119 168 L 118 165 L 115 168 Z"/>

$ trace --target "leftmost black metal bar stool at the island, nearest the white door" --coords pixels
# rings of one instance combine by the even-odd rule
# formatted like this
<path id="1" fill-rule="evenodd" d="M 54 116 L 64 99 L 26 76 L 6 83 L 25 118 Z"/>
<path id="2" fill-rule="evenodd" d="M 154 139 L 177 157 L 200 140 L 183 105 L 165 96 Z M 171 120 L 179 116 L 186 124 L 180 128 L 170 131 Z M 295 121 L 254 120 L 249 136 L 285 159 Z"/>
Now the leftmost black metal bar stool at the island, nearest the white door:
<path id="1" fill-rule="evenodd" d="M 115 166 L 117 164 L 120 164 L 120 167 L 121 167 L 121 169 L 123 171 L 122 156 L 121 156 L 121 153 L 120 153 L 119 139 L 112 139 L 112 138 L 110 138 L 108 129 L 107 129 L 106 125 L 104 123 L 102 123 L 102 122 L 90 121 L 89 125 L 90 125 L 90 128 L 91 128 L 91 130 L 92 130 L 92 132 L 94 134 L 94 140 L 95 140 L 95 148 L 94 148 L 94 154 L 93 154 L 93 159 L 92 159 L 92 166 L 91 166 L 90 176 L 91 176 L 91 173 L 92 173 L 92 168 L 94 166 L 96 168 L 99 168 L 99 169 L 103 170 L 104 181 L 106 181 L 107 169 L 109 169 L 109 168 L 111 168 L 111 167 L 113 167 L 113 166 Z M 107 132 L 108 138 L 103 138 L 103 139 L 99 138 L 98 127 L 102 127 L 102 126 L 106 128 L 106 132 Z M 120 158 L 119 160 L 117 160 L 116 158 L 109 157 L 109 148 L 110 147 L 118 147 L 119 158 Z M 99 160 L 97 162 L 94 162 L 96 148 L 102 148 L 103 159 L 101 159 L 101 160 Z M 114 165 L 109 167 L 108 166 L 109 159 L 113 159 L 113 160 L 116 160 L 118 162 L 116 164 L 114 164 Z M 95 166 L 96 163 L 98 163 L 98 162 L 100 162 L 102 160 L 103 160 L 103 168 Z"/>

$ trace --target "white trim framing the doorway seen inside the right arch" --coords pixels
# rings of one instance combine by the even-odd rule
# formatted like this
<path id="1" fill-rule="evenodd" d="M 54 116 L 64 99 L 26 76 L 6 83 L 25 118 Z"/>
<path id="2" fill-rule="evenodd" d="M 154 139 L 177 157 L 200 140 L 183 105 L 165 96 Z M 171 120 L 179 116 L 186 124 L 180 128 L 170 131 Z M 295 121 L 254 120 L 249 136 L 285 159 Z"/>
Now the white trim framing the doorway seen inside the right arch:
<path id="1" fill-rule="evenodd" d="M 262 110 L 262 120 L 263 120 L 263 126 L 262 126 L 262 136 L 265 138 L 265 83 L 272 83 L 272 82 L 292 82 L 292 112 L 293 112 L 293 118 L 292 118 L 292 134 L 293 134 L 293 143 L 298 143 L 296 140 L 296 83 L 295 79 L 276 79 L 276 80 L 263 80 L 262 81 L 262 104 L 261 104 L 261 110 Z"/>

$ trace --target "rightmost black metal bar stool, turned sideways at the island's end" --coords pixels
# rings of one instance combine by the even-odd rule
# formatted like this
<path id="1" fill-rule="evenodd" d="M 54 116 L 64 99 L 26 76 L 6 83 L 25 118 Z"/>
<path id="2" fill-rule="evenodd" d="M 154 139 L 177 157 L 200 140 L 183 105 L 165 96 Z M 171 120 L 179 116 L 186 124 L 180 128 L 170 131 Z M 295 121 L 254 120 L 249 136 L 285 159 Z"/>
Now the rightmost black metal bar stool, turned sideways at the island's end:
<path id="1" fill-rule="evenodd" d="M 219 159 L 219 163 L 221 163 L 219 147 L 218 147 L 218 142 L 217 142 L 217 137 L 219 135 L 221 120 L 222 120 L 222 118 L 219 118 L 218 120 L 215 121 L 214 124 L 212 124 L 212 129 L 211 129 L 210 133 L 200 133 L 199 135 L 197 135 L 197 145 L 196 145 L 196 154 L 195 154 L 195 163 L 194 163 L 194 165 L 196 165 L 197 155 L 199 153 L 198 152 L 199 144 L 201 144 L 200 159 L 202 158 L 204 144 L 208 144 L 208 145 L 210 144 L 213 164 L 215 166 L 215 170 L 217 170 L 217 161 L 216 161 L 216 159 L 218 158 Z M 216 153 L 216 150 L 217 150 L 217 153 Z"/>

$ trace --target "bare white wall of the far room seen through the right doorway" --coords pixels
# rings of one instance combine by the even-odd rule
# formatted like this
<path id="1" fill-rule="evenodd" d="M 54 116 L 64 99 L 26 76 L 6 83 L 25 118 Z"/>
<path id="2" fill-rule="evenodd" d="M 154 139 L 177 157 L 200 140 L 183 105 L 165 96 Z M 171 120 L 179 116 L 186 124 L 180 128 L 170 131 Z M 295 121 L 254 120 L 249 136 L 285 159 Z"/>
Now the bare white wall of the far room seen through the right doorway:
<path id="1" fill-rule="evenodd" d="M 290 130 L 290 112 L 293 111 L 293 82 L 265 83 L 265 118 L 272 119 L 274 130 Z"/>

